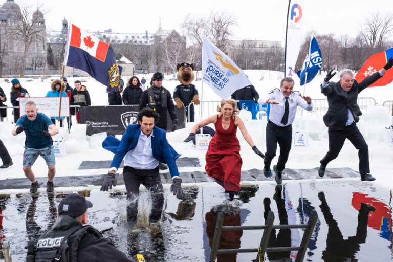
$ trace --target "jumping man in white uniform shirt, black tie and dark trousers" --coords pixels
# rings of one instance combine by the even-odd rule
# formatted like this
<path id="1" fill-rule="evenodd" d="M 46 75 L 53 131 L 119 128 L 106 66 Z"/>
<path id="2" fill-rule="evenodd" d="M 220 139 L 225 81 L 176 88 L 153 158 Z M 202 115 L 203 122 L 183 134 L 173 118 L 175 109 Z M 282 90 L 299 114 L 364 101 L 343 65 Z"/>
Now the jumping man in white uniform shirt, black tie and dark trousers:
<path id="1" fill-rule="evenodd" d="M 311 98 L 301 96 L 293 91 L 295 82 L 291 77 L 281 80 L 280 89 L 274 89 L 269 93 L 268 99 L 259 99 L 259 104 L 271 104 L 269 122 L 266 125 L 266 154 L 264 160 L 264 175 L 269 177 L 270 164 L 276 156 L 277 143 L 280 146 L 280 156 L 277 165 L 273 166 L 277 184 L 282 183 L 282 171 L 287 163 L 292 145 L 292 122 L 295 119 L 297 106 L 307 111 L 312 111 Z"/>

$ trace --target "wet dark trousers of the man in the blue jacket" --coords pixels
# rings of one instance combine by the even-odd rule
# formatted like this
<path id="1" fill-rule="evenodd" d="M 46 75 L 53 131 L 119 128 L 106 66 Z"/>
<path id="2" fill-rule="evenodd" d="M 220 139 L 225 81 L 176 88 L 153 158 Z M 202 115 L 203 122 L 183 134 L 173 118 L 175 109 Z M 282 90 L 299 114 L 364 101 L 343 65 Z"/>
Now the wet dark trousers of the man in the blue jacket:
<path id="1" fill-rule="evenodd" d="M 137 221 L 139 186 L 144 185 L 152 198 L 150 221 L 161 218 L 164 205 L 164 189 L 158 167 L 150 170 L 140 170 L 129 166 L 123 168 L 125 189 L 127 190 L 127 221 Z"/>

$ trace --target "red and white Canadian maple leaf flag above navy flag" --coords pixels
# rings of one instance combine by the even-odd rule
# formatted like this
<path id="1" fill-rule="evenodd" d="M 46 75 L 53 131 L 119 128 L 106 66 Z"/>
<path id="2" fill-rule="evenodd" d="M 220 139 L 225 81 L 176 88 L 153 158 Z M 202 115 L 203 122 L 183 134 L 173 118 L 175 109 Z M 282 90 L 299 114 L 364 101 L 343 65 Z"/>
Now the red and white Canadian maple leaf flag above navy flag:
<path id="1" fill-rule="evenodd" d="M 71 25 L 70 46 L 80 48 L 91 56 L 104 62 L 108 53 L 109 44 L 101 41 L 91 33 L 81 30 L 74 24 Z"/>

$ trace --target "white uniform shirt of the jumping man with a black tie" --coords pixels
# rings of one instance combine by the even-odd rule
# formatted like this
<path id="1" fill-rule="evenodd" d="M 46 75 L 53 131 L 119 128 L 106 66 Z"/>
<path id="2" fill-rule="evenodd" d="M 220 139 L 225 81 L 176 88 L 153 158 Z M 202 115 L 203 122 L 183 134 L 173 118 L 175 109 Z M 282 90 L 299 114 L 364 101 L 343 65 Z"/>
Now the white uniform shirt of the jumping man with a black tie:
<path id="1" fill-rule="evenodd" d="M 260 98 L 258 100 L 259 104 L 266 104 L 266 100 L 277 100 L 279 104 L 270 104 L 270 113 L 269 113 L 269 120 L 272 121 L 275 125 L 278 126 L 288 126 L 292 124 L 293 120 L 295 119 L 297 106 L 303 107 L 307 111 L 313 110 L 313 104 L 308 104 L 304 98 L 300 95 L 298 91 L 292 92 L 292 94 L 288 97 L 289 103 L 289 114 L 288 114 L 288 122 L 286 125 L 281 123 L 282 117 L 284 116 L 285 112 L 285 97 L 282 94 L 280 89 L 273 89 L 270 93 L 268 98 Z"/>

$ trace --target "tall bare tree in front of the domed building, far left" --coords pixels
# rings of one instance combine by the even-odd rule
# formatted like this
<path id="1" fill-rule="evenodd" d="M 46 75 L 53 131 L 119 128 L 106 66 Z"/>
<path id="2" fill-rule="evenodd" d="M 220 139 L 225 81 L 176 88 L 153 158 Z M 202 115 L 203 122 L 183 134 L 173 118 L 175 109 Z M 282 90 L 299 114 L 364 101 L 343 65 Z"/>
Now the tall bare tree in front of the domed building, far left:
<path id="1" fill-rule="evenodd" d="M 20 76 L 25 75 L 26 59 L 29 53 L 29 48 L 34 41 L 43 41 L 42 34 L 45 33 L 45 28 L 37 26 L 38 21 L 32 17 L 32 6 L 22 6 L 20 8 L 21 15 L 16 17 L 16 25 L 14 25 L 10 32 L 14 39 L 24 43 L 23 56 L 20 63 Z"/>

